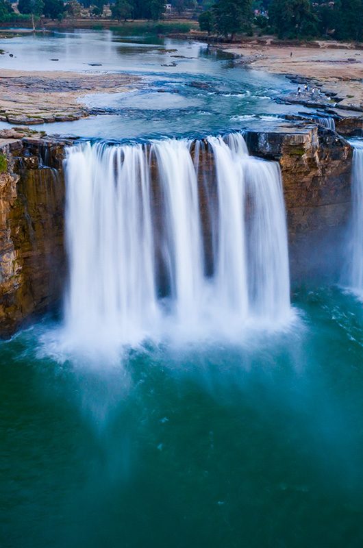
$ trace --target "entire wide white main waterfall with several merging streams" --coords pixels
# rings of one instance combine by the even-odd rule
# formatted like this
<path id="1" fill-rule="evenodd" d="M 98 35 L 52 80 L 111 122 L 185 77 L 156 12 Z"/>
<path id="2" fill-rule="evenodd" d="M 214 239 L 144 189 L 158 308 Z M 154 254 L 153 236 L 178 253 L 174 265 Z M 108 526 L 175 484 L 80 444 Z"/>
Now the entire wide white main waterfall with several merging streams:
<path id="1" fill-rule="evenodd" d="M 251 158 L 240 134 L 83 143 L 65 173 L 75 345 L 228 337 L 289 319 L 279 166 Z"/>

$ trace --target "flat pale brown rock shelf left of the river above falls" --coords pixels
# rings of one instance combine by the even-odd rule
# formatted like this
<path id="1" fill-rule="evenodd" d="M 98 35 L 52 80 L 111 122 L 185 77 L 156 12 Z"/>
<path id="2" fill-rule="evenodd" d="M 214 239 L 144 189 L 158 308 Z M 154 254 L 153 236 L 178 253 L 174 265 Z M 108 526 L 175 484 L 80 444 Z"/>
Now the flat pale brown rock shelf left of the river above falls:
<path id="1" fill-rule="evenodd" d="M 127 74 L 4 70 L 0 76 L 0 120 L 24 124 L 76 120 L 90 114 L 82 104 L 85 95 L 126 92 L 140 82 Z"/>

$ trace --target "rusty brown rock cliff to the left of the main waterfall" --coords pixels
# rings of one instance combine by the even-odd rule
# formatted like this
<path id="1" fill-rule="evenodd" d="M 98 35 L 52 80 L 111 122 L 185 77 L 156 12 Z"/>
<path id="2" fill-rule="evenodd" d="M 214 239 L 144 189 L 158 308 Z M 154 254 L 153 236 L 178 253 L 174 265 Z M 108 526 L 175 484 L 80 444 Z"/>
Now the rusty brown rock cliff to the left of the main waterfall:
<path id="1" fill-rule="evenodd" d="M 60 297 L 64 146 L 34 139 L 10 139 L 0 146 L 0 334 L 6 336 Z"/>

